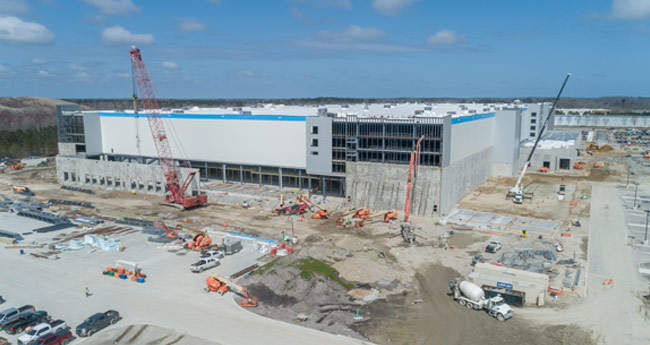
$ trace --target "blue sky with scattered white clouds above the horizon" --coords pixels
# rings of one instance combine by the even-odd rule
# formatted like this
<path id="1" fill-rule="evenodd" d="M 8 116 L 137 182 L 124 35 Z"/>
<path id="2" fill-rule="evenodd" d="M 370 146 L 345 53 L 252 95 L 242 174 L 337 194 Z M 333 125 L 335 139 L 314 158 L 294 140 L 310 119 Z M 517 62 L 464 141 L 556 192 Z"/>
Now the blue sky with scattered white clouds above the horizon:
<path id="1" fill-rule="evenodd" d="M 0 96 L 650 96 L 650 0 L 0 0 Z"/>

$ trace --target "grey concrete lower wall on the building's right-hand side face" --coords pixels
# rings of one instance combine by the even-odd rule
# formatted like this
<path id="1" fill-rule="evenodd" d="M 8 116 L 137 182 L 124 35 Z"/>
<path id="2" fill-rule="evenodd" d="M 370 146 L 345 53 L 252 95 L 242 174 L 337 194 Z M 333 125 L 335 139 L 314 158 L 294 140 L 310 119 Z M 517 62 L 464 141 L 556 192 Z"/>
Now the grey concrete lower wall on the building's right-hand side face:
<path id="1" fill-rule="evenodd" d="M 447 213 L 463 196 L 483 183 L 492 172 L 492 146 L 442 170 L 440 212 Z"/>

